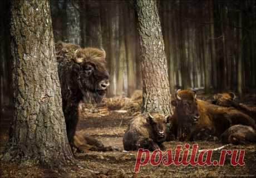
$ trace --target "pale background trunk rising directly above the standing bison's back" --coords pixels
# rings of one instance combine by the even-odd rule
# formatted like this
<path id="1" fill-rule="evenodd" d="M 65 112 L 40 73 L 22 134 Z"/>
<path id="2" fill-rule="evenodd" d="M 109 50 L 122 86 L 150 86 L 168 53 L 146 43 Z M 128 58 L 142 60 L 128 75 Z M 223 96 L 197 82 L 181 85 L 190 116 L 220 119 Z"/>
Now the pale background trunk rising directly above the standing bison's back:
<path id="1" fill-rule="evenodd" d="M 78 11 L 77 1 L 67 1 L 67 42 L 72 44 L 81 44 L 80 33 L 80 13 Z"/>

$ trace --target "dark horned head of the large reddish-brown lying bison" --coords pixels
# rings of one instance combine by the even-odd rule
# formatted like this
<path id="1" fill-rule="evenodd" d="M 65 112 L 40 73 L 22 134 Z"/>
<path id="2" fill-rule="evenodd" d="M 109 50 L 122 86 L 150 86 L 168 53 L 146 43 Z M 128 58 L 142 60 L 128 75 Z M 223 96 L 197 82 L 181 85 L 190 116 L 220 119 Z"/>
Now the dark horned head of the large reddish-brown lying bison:
<path id="1" fill-rule="evenodd" d="M 175 99 L 171 100 L 175 106 L 176 124 L 178 125 L 178 138 L 191 134 L 193 125 L 198 122 L 199 112 L 194 90 L 178 90 Z"/>

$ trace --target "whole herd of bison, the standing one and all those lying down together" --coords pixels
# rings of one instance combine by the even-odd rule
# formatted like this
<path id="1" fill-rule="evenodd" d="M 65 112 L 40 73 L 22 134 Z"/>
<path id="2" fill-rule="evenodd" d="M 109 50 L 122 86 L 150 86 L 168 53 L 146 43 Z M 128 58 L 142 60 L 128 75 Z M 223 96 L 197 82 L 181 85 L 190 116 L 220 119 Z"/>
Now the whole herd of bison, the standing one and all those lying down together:
<path id="1" fill-rule="evenodd" d="M 105 51 L 58 42 L 56 56 L 71 148 L 73 151 L 118 150 L 104 146 L 83 131 L 76 131 L 80 101 L 100 103 L 109 86 Z M 194 90 L 178 90 L 171 96 L 173 115 L 142 113 L 130 121 L 123 138 L 125 150 L 164 150 L 163 143 L 170 140 L 255 143 L 256 107 L 237 103 L 234 93 L 216 94 L 213 103 L 197 99 Z"/>

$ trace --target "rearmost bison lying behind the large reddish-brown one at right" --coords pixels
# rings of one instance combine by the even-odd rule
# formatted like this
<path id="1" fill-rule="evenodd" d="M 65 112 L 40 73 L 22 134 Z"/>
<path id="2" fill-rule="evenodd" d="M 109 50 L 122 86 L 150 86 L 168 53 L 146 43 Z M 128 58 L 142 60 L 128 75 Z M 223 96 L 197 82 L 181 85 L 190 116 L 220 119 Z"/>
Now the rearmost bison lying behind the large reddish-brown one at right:
<path id="1" fill-rule="evenodd" d="M 247 114 L 251 116 L 255 121 L 256 121 L 256 107 L 252 106 L 247 106 L 242 103 L 238 103 L 235 101 L 235 94 L 232 92 L 229 93 L 219 93 L 215 94 L 213 96 L 213 104 L 219 105 L 219 106 L 224 106 L 224 107 L 234 107 L 235 109 L 241 111 L 244 114 Z"/>

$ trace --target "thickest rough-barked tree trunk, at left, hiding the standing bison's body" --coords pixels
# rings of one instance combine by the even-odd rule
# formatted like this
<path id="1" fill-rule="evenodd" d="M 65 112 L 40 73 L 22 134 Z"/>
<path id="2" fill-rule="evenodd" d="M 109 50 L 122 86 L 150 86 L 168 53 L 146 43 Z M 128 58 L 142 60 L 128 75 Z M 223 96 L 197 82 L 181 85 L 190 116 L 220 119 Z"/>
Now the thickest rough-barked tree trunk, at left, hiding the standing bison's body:
<path id="1" fill-rule="evenodd" d="M 4 160 L 69 164 L 48 1 L 12 1 L 14 121 Z"/>

